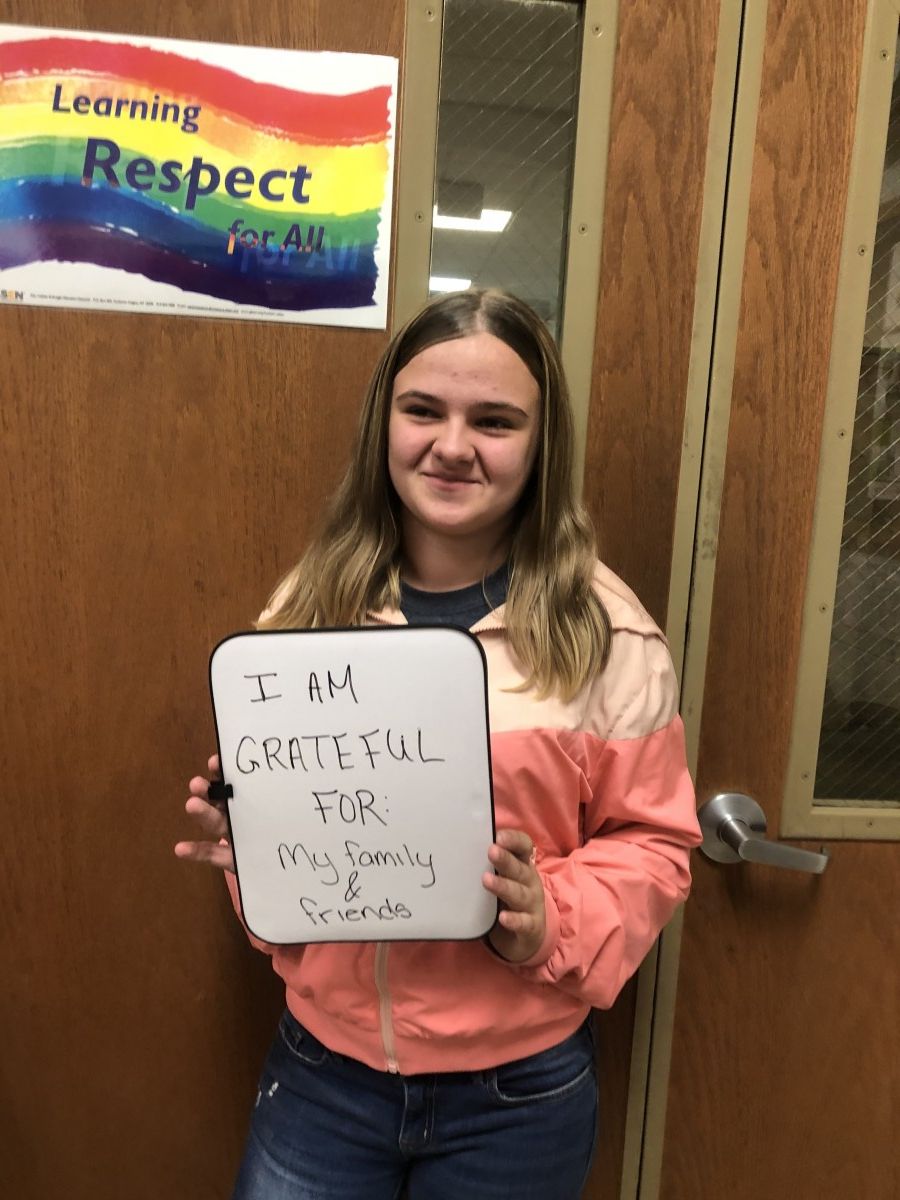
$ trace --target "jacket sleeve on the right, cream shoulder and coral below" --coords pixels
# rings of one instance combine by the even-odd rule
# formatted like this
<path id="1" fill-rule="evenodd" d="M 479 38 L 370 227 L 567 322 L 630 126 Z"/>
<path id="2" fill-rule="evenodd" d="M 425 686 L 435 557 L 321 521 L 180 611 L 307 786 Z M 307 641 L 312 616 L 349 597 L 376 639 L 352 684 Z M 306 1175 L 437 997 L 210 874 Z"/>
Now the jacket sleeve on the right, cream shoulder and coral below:
<path id="1" fill-rule="evenodd" d="M 686 898 L 701 841 L 668 650 L 660 636 L 616 640 L 581 743 L 583 841 L 565 856 L 538 847 L 547 932 L 514 967 L 596 1008 L 613 1003 Z"/>

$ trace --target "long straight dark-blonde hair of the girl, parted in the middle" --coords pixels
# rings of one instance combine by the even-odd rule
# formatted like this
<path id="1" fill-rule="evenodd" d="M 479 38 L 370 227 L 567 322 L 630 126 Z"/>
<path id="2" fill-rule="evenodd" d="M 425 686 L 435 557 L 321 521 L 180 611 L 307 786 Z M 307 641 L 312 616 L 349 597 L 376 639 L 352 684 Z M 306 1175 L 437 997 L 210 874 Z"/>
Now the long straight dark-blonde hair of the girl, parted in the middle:
<path id="1" fill-rule="evenodd" d="M 394 379 L 430 346 L 482 331 L 509 346 L 540 386 L 538 452 L 509 554 L 506 632 L 524 668 L 523 688 L 571 698 L 605 665 L 611 628 L 592 586 L 593 530 L 572 490 L 569 390 L 544 322 L 494 289 L 442 295 L 391 340 L 368 385 L 347 473 L 259 628 L 362 625 L 367 613 L 398 606 L 401 503 L 388 473 Z"/>

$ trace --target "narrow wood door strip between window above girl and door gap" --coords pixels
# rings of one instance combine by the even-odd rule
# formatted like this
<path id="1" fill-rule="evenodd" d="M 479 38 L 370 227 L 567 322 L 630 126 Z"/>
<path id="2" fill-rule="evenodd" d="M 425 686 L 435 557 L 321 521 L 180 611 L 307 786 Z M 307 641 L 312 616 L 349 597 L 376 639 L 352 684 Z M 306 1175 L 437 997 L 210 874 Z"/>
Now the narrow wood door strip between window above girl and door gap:
<path id="1" fill-rule="evenodd" d="M 710 126 L 716 94 L 733 91 L 720 42 L 736 38 L 738 23 L 720 38 L 720 0 L 628 0 L 612 29 L 610 14 L 600 16 L 589 34 L 614 31 L 616 61 L 584 502 L 604 562 L 674 630 L 683 616 L 667 598 L 686 397 L 696 388 L 692 355 L 712 329 L 704 192 L 713 196 L 706 208 L 721 209 L 721 181 L 708 170 Z M 676 638 L 672 648 L 679 661 Z M 653 960 L 612 1009 L 595 1014 L 600 1129 L 584 1200 L 636 1195 Z"/>

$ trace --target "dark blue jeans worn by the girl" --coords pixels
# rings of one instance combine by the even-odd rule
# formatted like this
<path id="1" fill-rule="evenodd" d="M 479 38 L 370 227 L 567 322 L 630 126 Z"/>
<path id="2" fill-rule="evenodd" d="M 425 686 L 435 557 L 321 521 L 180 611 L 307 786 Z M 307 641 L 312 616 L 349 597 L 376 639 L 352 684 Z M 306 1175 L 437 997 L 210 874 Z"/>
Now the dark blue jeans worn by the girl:
<path id="1" fill-rule="evenodd" d="M 595 1132 L 588 1025 L 491 1070 L 390 1075 L 286 1012 L 233 1200 L 577 1200 Z"/>

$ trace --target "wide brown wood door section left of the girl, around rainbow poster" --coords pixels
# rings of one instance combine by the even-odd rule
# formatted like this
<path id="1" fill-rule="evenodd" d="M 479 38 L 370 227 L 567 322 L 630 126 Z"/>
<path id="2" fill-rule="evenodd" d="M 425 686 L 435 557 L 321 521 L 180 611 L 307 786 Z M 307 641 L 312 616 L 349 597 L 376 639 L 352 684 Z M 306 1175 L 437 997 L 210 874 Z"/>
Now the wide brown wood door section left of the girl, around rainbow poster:
<path id="1" fill-rule="evenodd" d="M 7 0 L 4 20 L 398 56 L 370 0 Z M 206 660 L 342 466 L 384 332 L 16 307 L 0 474 L 0 1193 L 221 1200 L 283 1003 L 179 863 Z"/>

